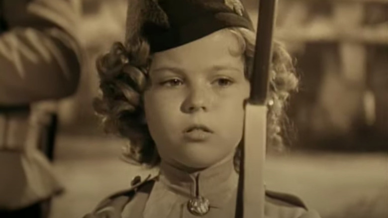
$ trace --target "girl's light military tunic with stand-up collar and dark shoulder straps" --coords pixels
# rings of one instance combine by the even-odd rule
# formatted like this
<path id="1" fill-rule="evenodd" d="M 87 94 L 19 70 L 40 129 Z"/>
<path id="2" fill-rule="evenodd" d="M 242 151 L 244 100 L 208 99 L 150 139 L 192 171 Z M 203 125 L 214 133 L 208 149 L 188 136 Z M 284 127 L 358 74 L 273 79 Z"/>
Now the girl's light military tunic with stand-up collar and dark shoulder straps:
<path id="1" fill-rule="evenodd" d="M 162 162 L 158 176 L 104 200 L 85 218 L 198 218 L 188 210 L 188 201 L 197 195 L 210 203 L 202 218 L 235 218 L 237 185 L 232 161 L 195 174 Z M 265 216 L 319 218 L 296 197 L 275 192 L 267 192 Z"/>

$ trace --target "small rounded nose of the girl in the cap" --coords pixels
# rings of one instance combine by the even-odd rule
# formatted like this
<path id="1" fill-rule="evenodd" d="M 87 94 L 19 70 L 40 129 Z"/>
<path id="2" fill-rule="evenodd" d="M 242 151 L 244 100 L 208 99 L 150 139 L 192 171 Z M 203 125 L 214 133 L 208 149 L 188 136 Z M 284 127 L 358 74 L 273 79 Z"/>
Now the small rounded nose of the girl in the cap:
<path id="1" fill-rule="evenodd" d="M 203 87 L 191 88 L 183 104 L 183 111 L 193 113 L 199 110 L 207 111 L 210 106 L 210 93 Z"/>

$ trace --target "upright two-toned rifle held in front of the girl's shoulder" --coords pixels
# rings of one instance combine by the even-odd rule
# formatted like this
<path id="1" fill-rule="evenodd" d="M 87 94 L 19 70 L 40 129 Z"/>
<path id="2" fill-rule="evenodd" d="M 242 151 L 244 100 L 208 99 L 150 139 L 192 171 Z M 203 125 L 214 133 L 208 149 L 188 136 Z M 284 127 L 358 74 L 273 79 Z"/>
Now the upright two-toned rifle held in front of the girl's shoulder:
<path id="1" fill-rule="evenodd" d="M 259 0 L 251 93 L 245 108 L 244 147 L 240 164 L 238 218 L 264 218 L 264 164 L 267 139 L 267 93 L 277 0 Z"/>

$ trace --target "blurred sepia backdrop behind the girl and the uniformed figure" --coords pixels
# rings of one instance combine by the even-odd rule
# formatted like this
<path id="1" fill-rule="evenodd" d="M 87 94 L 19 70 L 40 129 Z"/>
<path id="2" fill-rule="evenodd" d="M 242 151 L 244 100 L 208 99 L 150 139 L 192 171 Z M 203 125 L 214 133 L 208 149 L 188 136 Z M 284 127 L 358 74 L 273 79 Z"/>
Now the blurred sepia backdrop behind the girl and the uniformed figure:
<path id="1" fill-rule="evenodd" d="M 66 192 L 51 218 L 80 218 L 129 186 L 125 140 L 103 133 L 92 109 L 95 59 L 124 35 L 126 0 L 75 0 L 86 65 L 60 102 L 54 166 Z M 257 20 L 257 0 L 245 0 Z M 301 197 L 322 218 L 388 217 L 388 0 L 280 0 L 275 35 L 301 84 L 288 107 L 290 152 L 268 155 L 269 189 Z"/>

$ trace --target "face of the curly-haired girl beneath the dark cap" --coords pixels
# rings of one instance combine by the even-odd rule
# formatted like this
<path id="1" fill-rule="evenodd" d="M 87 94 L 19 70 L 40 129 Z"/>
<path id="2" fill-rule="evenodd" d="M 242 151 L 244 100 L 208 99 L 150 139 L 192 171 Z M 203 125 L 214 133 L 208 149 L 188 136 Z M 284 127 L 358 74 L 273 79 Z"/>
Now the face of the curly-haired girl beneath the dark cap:
<path id="1" fill-rule="evenodd" d="M 250 90 L 241 50 L 220 30 L 154 55 L 145 114 L 164 161 L 195 170 L 233 158 Z"/>

